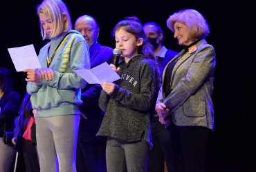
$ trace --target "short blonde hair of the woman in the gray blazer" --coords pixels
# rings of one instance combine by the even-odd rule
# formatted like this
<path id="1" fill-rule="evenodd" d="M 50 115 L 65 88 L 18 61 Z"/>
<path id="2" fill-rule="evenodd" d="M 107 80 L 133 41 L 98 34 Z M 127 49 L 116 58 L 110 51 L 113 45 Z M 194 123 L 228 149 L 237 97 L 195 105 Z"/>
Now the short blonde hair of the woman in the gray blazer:
<path id="1" fill-rule="evenodd" d="M 167 27 L 174 32 L 174 23 L 176 21 L 188 26 L 191 36 L 195 39 L 204 39 L 210 33 L 209 25 L 203 15 L 193 9 L 180 10 L 172 14 L 167 19 Z"/>

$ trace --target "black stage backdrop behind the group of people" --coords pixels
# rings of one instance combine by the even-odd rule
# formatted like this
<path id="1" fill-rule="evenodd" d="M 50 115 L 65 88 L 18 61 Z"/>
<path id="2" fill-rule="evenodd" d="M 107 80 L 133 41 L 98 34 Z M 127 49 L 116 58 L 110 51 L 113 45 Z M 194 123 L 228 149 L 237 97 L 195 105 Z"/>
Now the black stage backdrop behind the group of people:
<path id="1" fill-rule="evenodd" d="M 8 54 L 9 47 L 33 44 L 37 54 L 45 44 L 39 32 L 39 21 L 36 14 L 36 5 L 39 0 L 1 1 L 1 54 L 0 66 L 7 67 L 12 72 L 15 90 L 26 92 L 26 75 L 16 72 Z M 210 25 L 208 43 L 212 44 L 217 54 L 217 70 L 214 81 L 214 120 L 215 128 L 207 160 L 207 169 L 213 171 L 252 171 L 249 170 L 249 144 L 246 133 L 253 123 L 246 116 L 253 113 L 246 107 L 245 75 L 249 54 L 244 54 L 245 45 L 243 31 L 248 30 L 248 23 L 244 20 L 242 1 L 203 1 L 203 0 L 66 0 L 66 5 L 75 19 L 83 14 L 89 14 L 98 21 L 102 45 L 114 48 L 114 39 L 111 36 L 113 27 L 127 16 L 137 16 L 142 23 L 155 21 L 163 28 L 167 48 L 180 51 L 173 38 L 173 33 L 167 29 L 166 20 L 177 10 L 194 8 L 199 10 Z M 246 3 L 247 5 L 247 3 Z M 253 9 L 255 10 L 255 9 Z M 249 18 L 249 19 L 248 19 Z M 246 15 L 250 21 L 250 16 Z M 250 28 L 250 27 L 249 27 Z M 253 32 L 253 30 L 250 30 Z M 252 50 L 253 51 L 253 50 Z M 250 62 L 249 62 L 250 63 Z M 250 101 L 251 102 L 251 101 Z M 253 105 L 253 103 L 252 103 Z M 255 157 L 255 155 L 253 155 Z"/>

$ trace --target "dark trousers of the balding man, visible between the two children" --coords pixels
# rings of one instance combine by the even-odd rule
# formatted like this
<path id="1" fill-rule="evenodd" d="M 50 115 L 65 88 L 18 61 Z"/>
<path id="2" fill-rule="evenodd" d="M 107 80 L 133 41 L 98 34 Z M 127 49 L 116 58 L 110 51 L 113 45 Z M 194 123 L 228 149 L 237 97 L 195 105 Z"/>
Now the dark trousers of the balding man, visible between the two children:
<path id="1" fill-rule="evenodd" d="M 106 142 L 82 142 L 78 135 L 77 172 L 104 172 L 106 167 Z"/>

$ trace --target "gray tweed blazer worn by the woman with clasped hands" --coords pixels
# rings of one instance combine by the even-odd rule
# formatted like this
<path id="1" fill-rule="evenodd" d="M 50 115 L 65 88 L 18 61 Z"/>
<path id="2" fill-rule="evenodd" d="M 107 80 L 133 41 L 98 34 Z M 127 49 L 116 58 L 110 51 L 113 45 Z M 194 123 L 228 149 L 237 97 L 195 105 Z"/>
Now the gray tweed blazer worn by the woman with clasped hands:
<path id="1" fill-rule="evenodd" d="M 180 59 L 172 70 L 171 92 L 169 95 L 164 95 L 162 87 L 157 103 L 164 103 L 170 108 L 172 122 L 177 126 L 202 126 L 213 129 L 214 110 L 211 96 L 215 52 L 212 45 L 209 45 L 205 39 L 195 45 L 194 52 L 183 54 L 185 50 L 182 50 L 172 58 L 171 61 Z M 163 78 L 165 78 L 167 65 Z"/>

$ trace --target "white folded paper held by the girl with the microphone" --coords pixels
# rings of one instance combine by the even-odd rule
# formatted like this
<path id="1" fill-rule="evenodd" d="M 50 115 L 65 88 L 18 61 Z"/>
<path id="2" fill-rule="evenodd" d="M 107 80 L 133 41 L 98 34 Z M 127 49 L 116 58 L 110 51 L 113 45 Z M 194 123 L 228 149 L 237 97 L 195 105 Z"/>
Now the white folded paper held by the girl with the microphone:
<path id="1" fill-rule="evenodd" d="M 93 67 L 92 69 L 78 69 L 74 72 L 84 78 L 89 84 L 100 84 L 102 82 L 112 83 L 120 79 L 120 76 L 111 69 L 107 62 Z"/>

